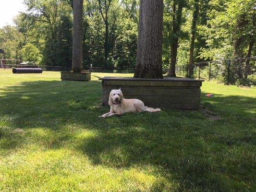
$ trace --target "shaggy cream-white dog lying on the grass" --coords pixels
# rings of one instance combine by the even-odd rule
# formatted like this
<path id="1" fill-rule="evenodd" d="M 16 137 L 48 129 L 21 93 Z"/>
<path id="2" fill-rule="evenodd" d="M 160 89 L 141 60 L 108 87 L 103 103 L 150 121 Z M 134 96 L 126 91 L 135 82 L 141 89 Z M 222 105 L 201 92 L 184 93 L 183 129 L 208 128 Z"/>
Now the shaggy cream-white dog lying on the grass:
<path id="1" fill-rule="evenodd" d="M 139 99 L 125 99 L 123 98 L 121 89 L 113 89 L 110 91 L 109 98 L 110 112 L 105 113 L 99 117 L 110 117 L 112 115 L 122 115 L 127 112 L 157 112 L 160 108 L 148 108 Z"/>

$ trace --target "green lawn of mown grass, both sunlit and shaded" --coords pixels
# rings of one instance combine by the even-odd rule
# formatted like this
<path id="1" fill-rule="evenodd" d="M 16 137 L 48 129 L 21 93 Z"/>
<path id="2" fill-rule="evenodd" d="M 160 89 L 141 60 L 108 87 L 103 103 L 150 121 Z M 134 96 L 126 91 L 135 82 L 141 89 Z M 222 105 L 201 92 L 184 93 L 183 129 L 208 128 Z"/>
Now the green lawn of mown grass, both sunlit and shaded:
<path id="1" fill-rule="evenodd" d="M 1 192 L 256 191 L 256 89 L 205 82 L 204 109 L 98 118 L 112 75 L 132 76 L 0 70 Z"/>

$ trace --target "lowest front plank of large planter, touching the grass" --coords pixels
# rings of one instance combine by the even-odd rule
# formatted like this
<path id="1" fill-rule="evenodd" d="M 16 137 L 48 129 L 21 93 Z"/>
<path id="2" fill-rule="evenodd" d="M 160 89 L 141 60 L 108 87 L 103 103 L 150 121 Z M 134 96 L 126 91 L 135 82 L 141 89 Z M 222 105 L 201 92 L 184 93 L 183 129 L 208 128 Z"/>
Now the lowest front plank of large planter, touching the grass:
<path id="1" fill-rule="evenodd" d="M 102 103 L 103 106 L 109 106 L 107 102 Z M 161 108 L 161 109 L 170 109 L 170 108 L 177 108 L 177 109 L 198 109 L 198 104 L 155 104 L 155 103 L 147 103 L 146 106 L 151 108 Z"/>

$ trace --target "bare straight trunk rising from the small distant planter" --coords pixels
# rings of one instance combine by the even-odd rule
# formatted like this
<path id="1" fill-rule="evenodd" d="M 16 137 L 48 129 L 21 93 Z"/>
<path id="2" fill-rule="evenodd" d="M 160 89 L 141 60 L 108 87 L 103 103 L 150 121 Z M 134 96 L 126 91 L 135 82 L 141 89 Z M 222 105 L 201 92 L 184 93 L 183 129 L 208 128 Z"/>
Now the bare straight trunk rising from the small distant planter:
<path id="1" fill-rule="evenodd" d="M 82 71 L 83 59 L 83 0 L 73 0 L 73 57 L 72 71 Z"/>

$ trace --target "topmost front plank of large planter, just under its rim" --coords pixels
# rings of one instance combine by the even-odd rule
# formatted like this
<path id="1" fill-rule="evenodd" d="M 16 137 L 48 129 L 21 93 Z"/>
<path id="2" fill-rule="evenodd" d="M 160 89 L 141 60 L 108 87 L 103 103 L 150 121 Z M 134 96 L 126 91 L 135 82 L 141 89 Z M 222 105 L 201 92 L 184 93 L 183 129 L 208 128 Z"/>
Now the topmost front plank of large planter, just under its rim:
<path id="1" fill-rule="evenodd" d="M 102 80 L 102 85 L 107 86 L 185 86 L 200 87 L 201 82 L 185 82 L 185 81 L 108 81 Z"/>

